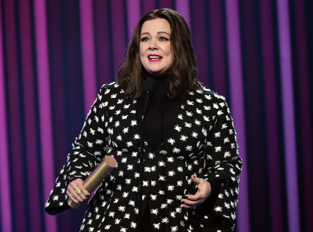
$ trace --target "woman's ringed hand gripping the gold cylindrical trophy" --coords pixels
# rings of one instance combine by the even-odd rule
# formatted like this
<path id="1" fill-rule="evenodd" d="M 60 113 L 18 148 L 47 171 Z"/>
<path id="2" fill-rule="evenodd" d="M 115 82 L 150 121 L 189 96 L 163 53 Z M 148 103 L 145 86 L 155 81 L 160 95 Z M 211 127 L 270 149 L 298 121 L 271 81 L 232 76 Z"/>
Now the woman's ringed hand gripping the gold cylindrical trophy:
<path id="1" fill-rule="evenodd" d="M 84 189 L 83 180 L 80 178 L 74 179 L 69 182 L 66 194 L 68 198 L 74 203 L 84 203 L 90 198 L 90 193 Z"/>

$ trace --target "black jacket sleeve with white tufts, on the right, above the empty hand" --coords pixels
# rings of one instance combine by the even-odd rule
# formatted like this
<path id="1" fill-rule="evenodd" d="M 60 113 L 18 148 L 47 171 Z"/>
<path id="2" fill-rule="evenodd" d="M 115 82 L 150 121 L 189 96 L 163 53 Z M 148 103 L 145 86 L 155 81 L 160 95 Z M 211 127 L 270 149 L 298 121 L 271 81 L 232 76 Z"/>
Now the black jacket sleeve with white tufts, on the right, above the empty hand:
<path id="1" fill-rule="evenodd" d="M 214 104 L 214 123 L 208 131 L 205 151 L 205 171 L 198 177 L 212 187 L 210 197 L 192 210 L 192 218 L 203 231 L 232 231 L 239 193 L 239 173 L 242 168 L 238 156 L 236 132 L 229 108 L 222 96 Z M 194 186 L 194 194 L 197 186 Z"/>

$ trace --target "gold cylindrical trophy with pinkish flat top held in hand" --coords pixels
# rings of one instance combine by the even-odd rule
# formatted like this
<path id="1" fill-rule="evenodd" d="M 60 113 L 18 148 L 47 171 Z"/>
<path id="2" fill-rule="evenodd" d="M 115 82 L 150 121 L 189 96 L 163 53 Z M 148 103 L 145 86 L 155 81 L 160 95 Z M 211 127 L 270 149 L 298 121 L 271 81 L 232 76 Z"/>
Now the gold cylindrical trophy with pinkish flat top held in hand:
<path id="1" fill-rule="evenodd" d="M 109 175 L 109 173 L 116 167 L 116 160 L 112 156 L 106 156 L 100 164 L 95 168 L 95 170 L 90 173 L 90 175 L 84 180 L 83 187 L 88 192 L 93 192 L 97 186 Z M 74 203 L 69 198 L 67 199 L 67 204 L 73 209 L 78 209 L 81 204 Z"/>

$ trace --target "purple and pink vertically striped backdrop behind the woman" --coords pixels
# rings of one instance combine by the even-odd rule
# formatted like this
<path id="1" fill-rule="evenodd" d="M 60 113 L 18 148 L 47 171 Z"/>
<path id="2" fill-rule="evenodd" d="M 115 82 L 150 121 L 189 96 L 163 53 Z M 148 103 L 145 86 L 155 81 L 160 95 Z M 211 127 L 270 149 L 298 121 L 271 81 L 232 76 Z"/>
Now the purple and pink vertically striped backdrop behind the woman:
<path id="1" fill-rule="evenodd" d="M 87 205 L 44 204 L 136 23 L 164 7 L 185 17 L 199 79 L 232 112 L 235 231 L 310 231 L 311 0 L 0 0 L 0 232 L 79 231 Z"/>

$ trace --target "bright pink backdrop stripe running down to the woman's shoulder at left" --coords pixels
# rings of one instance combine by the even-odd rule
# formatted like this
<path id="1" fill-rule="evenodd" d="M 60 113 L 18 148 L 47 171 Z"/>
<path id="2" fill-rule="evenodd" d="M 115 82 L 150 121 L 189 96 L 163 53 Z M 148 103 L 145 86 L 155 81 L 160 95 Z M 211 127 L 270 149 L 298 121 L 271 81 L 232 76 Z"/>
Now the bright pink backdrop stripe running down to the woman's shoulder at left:
<path id="1" fill-rule="evenodd" d="M 97 96 L 92 0 L 80 0 L 79 6 L 84 109 L 87 114 Z"/>

